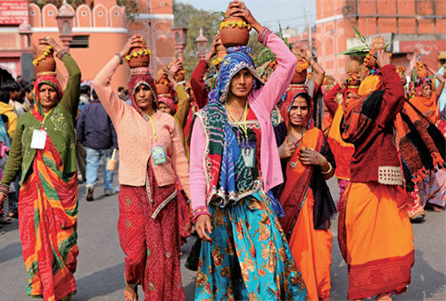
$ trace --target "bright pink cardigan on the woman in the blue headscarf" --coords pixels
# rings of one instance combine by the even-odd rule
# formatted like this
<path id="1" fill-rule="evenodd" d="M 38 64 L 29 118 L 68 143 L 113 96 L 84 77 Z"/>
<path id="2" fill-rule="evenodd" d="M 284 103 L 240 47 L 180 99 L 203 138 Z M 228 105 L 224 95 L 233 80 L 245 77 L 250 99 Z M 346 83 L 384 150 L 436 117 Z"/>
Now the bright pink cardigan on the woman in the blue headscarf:
<path id="1" fill-rule="evenodd" d="M 260 123 L 260 168 L 263 187 L 265 191 L 269 191 L 284 182 L 276 138 L 271 123 L 271 111 L 290 84 L 297 60 L 285 43 L 272 33 L 268 36 L 266 45 L 276 54 L 277 69 L 265 85 L 248 95 L 248 104 Z M 206 191 L 208 191 L 203 163 L 207 147 L 206 136 L 202 123 L 198 120 L 194 123 L 190 151 L 190 182 L 193 183 L 191 203 L 193 208 L 207 205 Z"/>

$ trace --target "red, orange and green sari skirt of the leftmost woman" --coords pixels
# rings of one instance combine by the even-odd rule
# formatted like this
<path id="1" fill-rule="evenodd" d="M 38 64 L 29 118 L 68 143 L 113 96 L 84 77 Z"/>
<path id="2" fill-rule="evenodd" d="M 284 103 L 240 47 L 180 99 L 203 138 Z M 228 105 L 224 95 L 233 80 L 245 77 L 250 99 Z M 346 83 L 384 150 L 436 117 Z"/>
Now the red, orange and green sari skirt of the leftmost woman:
<path id="1" fill-rule="evenodd" d="M 69 299 L 76 293 L 78 176 L 62 175 L 61 157 L 49 139 L 45 150 L 37 150 L 32 168 L 19 199 L 27 294 Z"/>

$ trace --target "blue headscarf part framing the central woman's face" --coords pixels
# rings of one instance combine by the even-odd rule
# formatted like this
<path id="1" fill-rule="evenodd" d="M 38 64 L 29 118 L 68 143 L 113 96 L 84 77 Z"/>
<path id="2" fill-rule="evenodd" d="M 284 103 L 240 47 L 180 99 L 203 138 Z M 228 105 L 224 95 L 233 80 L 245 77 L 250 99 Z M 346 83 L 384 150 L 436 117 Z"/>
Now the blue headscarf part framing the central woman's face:
<path id="1" fill-rule="evenodd" d="M 251 48 L 247 46 L 227 48 L 227 55 L 223 59 L 219 69 L 217 86 L 208 95 L 209 102 L 226 102 L 232 77 L 234 77 L 238 71 L 244 68 L 248 69 L 254 77 L 252 89 L 259 89 L 261 85 L 264 85 L 263 81 L 257 74 L 257 71 L 255 70 L 254 62 L 248 55 L 248 53 L 251 52 Z"/>

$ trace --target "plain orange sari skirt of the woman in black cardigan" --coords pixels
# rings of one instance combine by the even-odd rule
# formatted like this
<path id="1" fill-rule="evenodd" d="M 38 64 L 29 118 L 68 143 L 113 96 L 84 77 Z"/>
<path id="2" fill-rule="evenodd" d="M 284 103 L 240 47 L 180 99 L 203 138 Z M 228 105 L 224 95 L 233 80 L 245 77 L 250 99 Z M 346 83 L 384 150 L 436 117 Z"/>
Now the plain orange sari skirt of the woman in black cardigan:
<path id="1" fill-rule="evenodd" d="M 314 197 L 310 189 L 291 232 L 290 248 L 310 300 L 328 300 L 333 235 L 330 229 L 314 229 L 313 207 Z"/>

